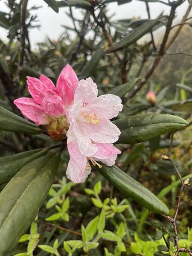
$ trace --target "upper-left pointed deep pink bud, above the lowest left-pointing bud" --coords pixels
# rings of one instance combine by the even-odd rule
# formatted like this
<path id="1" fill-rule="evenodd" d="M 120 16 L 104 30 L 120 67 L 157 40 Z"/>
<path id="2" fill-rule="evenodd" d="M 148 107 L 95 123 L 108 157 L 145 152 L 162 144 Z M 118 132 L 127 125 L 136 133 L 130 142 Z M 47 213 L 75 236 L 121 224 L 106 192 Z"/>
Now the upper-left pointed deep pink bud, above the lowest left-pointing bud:
<path id="1" fill-rule="evenodd" d="M 28 90 L 36 103 L 42 105 L 47 85 L 35 77 L 27 76 Z"/>

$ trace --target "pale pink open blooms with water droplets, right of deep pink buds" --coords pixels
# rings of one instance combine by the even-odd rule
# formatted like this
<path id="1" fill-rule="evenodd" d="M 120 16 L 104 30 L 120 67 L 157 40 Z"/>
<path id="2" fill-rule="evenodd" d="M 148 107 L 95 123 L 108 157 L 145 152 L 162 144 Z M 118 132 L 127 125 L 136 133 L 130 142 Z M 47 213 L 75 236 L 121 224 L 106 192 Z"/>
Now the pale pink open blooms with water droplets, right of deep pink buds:
<path id="1" fill-rule="evenodd" d="M 97 161 L 112 166 L 121 153 L 112 144 L 119 138 L 119 128 L 110 121 L 122 111 L 121 99 L 113 94 L 97 96 L 92 79 L 81 80 L 67 111 L 67 177 L 74 182 L 84 182 L 91 171 L 90 163 L 99 168 L 102 166 Z"/>

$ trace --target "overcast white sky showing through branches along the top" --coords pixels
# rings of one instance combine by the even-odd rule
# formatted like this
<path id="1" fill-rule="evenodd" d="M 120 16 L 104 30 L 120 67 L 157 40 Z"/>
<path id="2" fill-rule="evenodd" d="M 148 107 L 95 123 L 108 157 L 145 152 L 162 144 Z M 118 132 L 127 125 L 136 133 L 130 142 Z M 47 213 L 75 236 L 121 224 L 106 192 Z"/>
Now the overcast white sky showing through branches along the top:
<path id="1" fill-rule="evenodd" d="M 165 0 L 165 2 L 167 2 Z M 177 17 L 181 17 L 187 8 L 187 1 L 183 3 L 177 9 Z M 30 32 L 30 38 L 32 41 L 32 46 L 34 47 L 37 42 L 44 41 L 46 36 L 52 40 L 57 40 L 59 35 L 64 31 L 61 25 L 73 26 L 71 20 L 65 12 L 68 8 L 59 9 L 59 13 L 55 13 L 43 0 L 29 0 L 28 7 L 30 6 L 42 6 L 41 9 L 33 11 L 34 14 L 38 15 L 39 23 L 41 24 L 40 29 L 32 29 Z M 156 18 L 164 11 L 164 14 L 169 14 L 169 6 L 161 3 L 149 3 L 151 10 L 151 18 Z M 6 11 L 5 1 L 0 1 L 0 11 Z M 145 3 L 133 0 L 131 3 L 126 3 L 118 6 L 116 3 L 108 4 L 108 10 L 110 14 L 115 14 L 113 20 L 125 19 L 131 17 L 141 17 L 146 18 Z M 76 15 L 80 15 L 80 9 L 75 10 Z M 5 39 L 7 32 L 5 29 L 0 27 L 0 37 Z"/>

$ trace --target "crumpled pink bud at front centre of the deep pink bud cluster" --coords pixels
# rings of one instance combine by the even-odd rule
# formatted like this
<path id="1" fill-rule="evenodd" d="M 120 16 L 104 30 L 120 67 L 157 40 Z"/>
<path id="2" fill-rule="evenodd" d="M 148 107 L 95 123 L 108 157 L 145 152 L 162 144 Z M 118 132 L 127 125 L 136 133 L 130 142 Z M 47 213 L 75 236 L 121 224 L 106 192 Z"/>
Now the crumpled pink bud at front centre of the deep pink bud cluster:
<path id="1" fill-rule="evenodd" d="M 53 117 L 61 116 L 64 113 L 64 105 L 60 96 L 54 90 L 47 90 L 43 100 L 45 113 Z"/>

